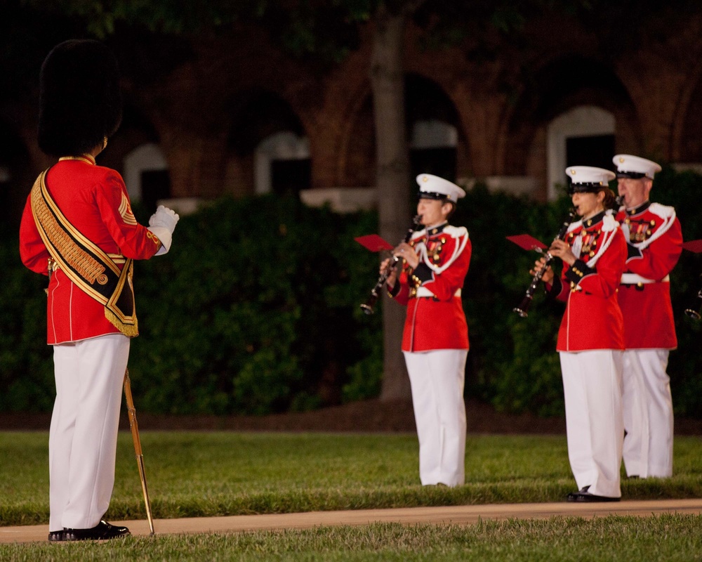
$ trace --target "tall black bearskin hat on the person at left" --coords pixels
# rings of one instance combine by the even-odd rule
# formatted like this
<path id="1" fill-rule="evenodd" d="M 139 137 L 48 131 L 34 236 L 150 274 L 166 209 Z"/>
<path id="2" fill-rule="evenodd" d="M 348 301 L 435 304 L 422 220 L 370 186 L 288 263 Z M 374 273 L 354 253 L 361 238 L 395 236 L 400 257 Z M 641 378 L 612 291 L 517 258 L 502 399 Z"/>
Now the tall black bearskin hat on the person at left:
<path id="1" fill-rule="evenodd" d="M 112 136 L 121 120 L 112 51 L 92 39 L 55 46 L 39 74 L 39 148 L 51 156 L 86 154 Z"/>

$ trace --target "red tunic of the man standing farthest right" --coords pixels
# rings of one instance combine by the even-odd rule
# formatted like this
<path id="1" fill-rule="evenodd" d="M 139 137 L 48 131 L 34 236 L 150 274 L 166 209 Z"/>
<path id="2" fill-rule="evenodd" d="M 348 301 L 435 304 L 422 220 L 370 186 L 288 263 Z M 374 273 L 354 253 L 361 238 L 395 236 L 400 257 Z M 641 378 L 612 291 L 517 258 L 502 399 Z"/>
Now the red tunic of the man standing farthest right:
<path id="1" fill-rule="evenodd" d="M 627 349 L 675 349 L 670 278 L 682 251 L 682 230 L 673 207 L 646 202 L 616 216 L 629 233 L 625 275 L 619 286 Z"/>

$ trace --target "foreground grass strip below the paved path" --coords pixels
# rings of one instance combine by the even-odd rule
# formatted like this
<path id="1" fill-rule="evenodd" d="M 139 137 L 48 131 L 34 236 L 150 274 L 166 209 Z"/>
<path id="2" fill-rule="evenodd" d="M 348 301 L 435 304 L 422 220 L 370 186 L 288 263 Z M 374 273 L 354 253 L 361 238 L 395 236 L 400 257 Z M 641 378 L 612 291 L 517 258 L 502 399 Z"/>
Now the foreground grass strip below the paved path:
<path id="1" fill-rule="evenodd" d="M 74 561 L 617 561 L 702 557 L 702 518 L 555 517 L 475 525 L 373 524 L 171 535 L 105 543 L 0 544 L 4 562 Z"/>

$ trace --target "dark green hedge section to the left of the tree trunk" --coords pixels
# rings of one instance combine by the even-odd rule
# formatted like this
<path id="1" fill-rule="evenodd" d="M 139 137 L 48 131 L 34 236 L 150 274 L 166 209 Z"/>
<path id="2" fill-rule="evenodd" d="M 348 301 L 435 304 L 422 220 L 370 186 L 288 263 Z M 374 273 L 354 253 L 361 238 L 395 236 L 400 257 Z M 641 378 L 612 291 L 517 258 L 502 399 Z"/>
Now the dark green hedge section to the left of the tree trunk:
<path id="1" fill-rule="evenodd" d="M 376 223 L 280 197 L 183 217 L 167 256 L 135 264 L 129 368 L 140 410 L 263 414 L 377 394 L 380 315 L 358 305 L 378 262 L 353 240 Z M 23 268 L 16 233 L 3 240 L 0 410 L 48 410 L 46 277 Z"/>

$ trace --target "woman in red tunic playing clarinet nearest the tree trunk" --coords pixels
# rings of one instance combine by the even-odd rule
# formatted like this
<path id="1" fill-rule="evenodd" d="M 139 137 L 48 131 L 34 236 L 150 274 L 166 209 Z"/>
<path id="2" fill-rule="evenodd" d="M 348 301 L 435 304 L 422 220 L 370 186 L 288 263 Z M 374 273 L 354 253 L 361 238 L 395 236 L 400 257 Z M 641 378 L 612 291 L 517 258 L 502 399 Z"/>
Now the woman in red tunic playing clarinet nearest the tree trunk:
<path id="1" fill-rule="evenodd" d="M 468 231 L 447 221 L 465 192 L 431 174 L 420 174 L 417 183 L 417 214 L 425 228 L 395 248 L 403 267 L 399 279 L 397 270 L 388 277 L 388 292 L 407 307 L 402 351 L 419 438 L 420 481 L 456 486 L 465 482 L 468 325 L 461 288 L 471 245 Z"/>

